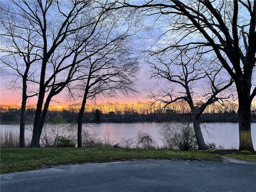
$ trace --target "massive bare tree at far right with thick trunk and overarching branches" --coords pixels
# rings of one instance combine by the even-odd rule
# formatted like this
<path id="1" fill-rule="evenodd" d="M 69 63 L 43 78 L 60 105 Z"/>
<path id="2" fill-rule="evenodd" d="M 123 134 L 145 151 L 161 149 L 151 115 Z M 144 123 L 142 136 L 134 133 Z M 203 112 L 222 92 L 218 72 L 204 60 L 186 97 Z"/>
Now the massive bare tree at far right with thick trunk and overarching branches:
<path id="1" fill-rule="evenodd" d="M 204 48 L 218 58 L 236 85 L 240 150 L 254 150 L 250 106 L 256 95 L 252 77 L 256 66 L 256 3 L 254 1 L 158 0 L 126 6 L 141 8 L 166 21 L 167 48 Z M 173 42 L 173 43 L 170 43 Z M 163 50 L 164 51 L 164 50 Z"/>

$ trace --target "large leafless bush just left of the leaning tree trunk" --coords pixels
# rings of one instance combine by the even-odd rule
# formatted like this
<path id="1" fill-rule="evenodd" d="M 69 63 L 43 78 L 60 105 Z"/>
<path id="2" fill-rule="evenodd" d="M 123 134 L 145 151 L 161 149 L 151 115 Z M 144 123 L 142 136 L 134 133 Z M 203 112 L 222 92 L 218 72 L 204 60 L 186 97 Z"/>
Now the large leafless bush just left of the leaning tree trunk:
<path id="1" fill-rule="evenodd" d="M 172 150 L 196 150 L 196 136 L 194 128 L 185 123 L 163 123 L 160 126 L 160 135 L 166 148 Z"/>

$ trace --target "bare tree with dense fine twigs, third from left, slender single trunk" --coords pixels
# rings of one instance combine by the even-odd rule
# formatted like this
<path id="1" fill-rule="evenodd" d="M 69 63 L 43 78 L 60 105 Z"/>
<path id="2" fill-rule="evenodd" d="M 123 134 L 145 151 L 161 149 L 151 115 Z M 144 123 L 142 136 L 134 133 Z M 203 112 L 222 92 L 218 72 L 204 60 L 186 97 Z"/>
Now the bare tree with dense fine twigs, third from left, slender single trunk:
<path id="1" fill-rule="evenodd" d="M 113 21 L 113 24 L 115 23 Z M 110 31 L 108 33 L 110 34 Z M 129 33 L 122 33 L 118 36 L 100 37 L 105 39 L 104 48 L 81 62 L 77 69 L 76 81 L 68 84 L 72 98 L 82 103 L 78 115 L 78 147 L 82 147 L 82 121 L 88 99 L 92 100 L 100 95 L 113 97 L 118 92 L 136 93 L 134 82 L 137 80 L 139 66 L 134 49 L 130 46 L 132 42 L 129 36 Z M 109 40 L 111 42 L 106 46 Z M 97 46 L 99 44 L 98 40 L 94 43 Z M 90 55 L 97 46 L 91 46 L 84 54 Z"/>

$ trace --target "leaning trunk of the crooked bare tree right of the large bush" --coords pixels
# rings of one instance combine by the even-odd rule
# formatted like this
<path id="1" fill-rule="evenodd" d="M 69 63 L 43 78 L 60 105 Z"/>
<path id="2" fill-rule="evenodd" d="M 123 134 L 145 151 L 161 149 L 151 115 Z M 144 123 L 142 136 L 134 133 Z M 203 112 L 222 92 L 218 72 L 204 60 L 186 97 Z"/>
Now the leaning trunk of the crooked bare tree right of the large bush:
<path id="1" fill-rule="evenodd" d="M 198 144 L 198 150 L 206 150 L 204 137 L 200 127 L 200 120 L 197 115 L 193 115 L 193 114 L 192 114 L 192 120 L 193 120 L 195 135 L 196 135 L 196 141 Z"/>

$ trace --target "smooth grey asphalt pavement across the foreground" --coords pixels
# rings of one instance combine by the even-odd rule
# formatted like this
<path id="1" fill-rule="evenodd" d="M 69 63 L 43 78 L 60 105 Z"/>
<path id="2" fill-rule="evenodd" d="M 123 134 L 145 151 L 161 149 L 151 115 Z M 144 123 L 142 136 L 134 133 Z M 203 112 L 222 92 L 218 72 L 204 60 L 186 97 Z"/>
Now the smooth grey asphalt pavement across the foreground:
<path id="1" fill-rule="evenodd" d="M 1 174 L 1 192 L 256 192 L 256 164 L 136 160 Z"/>

